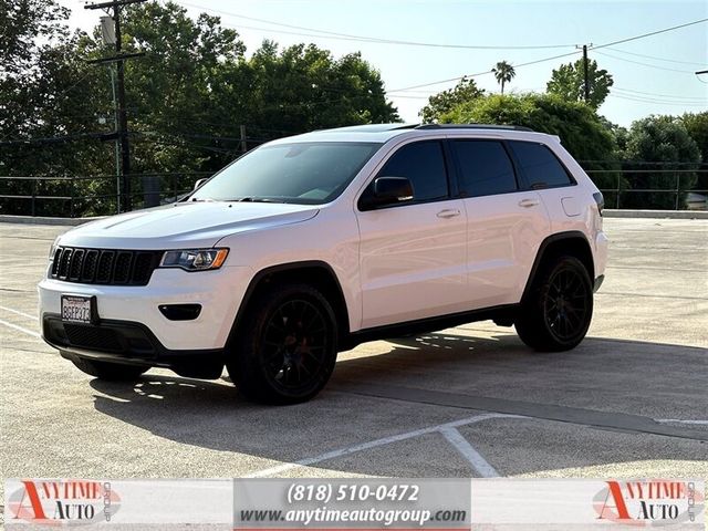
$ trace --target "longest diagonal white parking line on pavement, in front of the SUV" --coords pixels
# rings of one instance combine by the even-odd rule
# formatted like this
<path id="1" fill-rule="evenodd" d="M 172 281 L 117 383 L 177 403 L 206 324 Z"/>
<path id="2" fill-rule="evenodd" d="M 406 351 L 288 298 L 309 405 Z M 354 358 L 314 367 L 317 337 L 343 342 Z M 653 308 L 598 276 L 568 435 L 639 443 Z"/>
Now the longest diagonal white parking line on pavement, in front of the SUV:
<path id="1" fill-rule="evenodd" d="M 277 473 L 282 473 L 288 470 L 292 470 L 298 467 L 308 467 L 310 465 L 315 465 L 317 462 L 327 461 L 330 459 L 336 459 L 337 457 L 348 456 L 350 454 L 356 454 L 362 450 L 368 450 L 372 448 L 377 448 L 379 446 L 389 445 L 392 442 L 399 442 L 402 440 L 412 439 L 414 437 L 419 437 L 421 435 L 428 435 L 434 433 L 441 433 L 444 429 L 455 429 L 458 426 L 467 426 L 469 424 L 480 423 L 482 420 L 488 420 L 490 418 L 522 418 L 519 415 L 504 415 L 500 413 L 486 413 L 483 415 L 476 415 L 473 417 L 464 418 L 461 420 L 454 420 L 451 423 L 440 424 L 437 426 L 430 426 L 428 428 L 416 429 L 414 431 L 408 431 L 405 434 L 392 435 L 391 437 L 384 437 L 382 439 L 371 440 L 368 442 L 362 442 L 360 445 L 350 446 L 346 448 L 340 448 L 337 450 L 327 451 L 326 454 L 322 454 L 315 457 L 308 457 L 305 459 L 300 459 L 294 462 L 285 462 L 283 465 L 278 465 L 277 467 L 266 468 L 263 470 L 258 470 L 256 472 L 251 472 L 246 475 L 246 478 L 263 478 L 268 476 L 273 476 Z M 461 435 L 460 435 L 461 437 Z M 479 456 L 480 459 L 481 456 Z M 483 460 L 483 459 L 482 459 Z M 486 461 L 485 461 L 486 462 Z M 494 470 L 489 464 L 487 466 Z M 494 471 L 496 472 L 496 471 Z"/>

